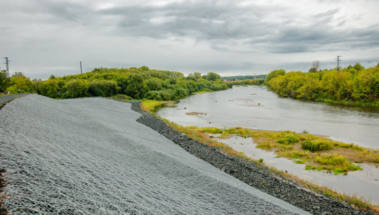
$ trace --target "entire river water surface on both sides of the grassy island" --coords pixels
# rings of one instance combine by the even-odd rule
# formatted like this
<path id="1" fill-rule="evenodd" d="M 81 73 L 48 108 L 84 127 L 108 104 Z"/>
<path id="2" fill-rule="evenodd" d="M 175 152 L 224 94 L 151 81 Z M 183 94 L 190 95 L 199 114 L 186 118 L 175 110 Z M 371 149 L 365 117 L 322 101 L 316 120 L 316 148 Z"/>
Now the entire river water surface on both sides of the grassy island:
<path id="1" fill-rule="evenodd" d="M 185 115 L 198 112 L 204 115 Z M 257 130 L 307 131 L 333 140 L 379 148 L 379 107 L 330 104 L 282 98 L 265 87 L 234 87 L 189 96 L 175 107 L 165 107 L 157 115 L 184 126 L 246 127 Z M 210 122 L 210 123 L 209 123 Z M 363 170 L 334 175 L 325 171 L 305 170 L 305 164 L 295 164 L 275 158 L 272 152 L 256 148 L 251 138 L 233 137 L 219 140 L 254 159 L 313 183 L 341 193 L 362 196 L 379 205 L 379 167 L 358 164 Z"/>

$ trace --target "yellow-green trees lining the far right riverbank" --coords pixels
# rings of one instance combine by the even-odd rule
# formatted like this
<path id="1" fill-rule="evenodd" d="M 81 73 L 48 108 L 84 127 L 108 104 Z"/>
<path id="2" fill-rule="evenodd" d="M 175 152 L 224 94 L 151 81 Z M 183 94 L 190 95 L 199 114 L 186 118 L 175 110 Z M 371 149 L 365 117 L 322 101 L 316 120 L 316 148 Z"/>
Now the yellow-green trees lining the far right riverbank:
<path id="1" fill-rule="evenodd" d="M 343 69 L 314 69 L 308 73 L 274 70 L 265 84 L 281 96 L 379 105 L 379 63 L 367 69 L 355 63 Z"/>

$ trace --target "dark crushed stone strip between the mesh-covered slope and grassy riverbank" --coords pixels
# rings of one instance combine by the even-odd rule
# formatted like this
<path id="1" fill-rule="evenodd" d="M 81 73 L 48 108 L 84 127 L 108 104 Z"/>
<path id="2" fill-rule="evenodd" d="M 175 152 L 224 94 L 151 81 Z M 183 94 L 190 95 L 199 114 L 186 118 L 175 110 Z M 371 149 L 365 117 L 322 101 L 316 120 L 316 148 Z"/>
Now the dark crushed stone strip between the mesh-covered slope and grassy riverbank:
<path id="1" fill-rule="evenodd" d="M 216 147 L 207 146 L 188 138 L 165 124 L 159 118 L 141 110 L 140 101 L 131 101 L 130 103 L 132 103 L 133 111 L 142 114 L 137 119 L 137 122 L 151 127 L 154 131 L 178 144 L 192 155 L 271 196 L 313 214 L 377 214 L 373 211 L 356 209 L 339 201 L 332 200 L 321 193 L 306 189 L 298 181 L 283 177 L 280 173 L 257 162 L 247 161 L 238 156 L 222 153 Z"/>

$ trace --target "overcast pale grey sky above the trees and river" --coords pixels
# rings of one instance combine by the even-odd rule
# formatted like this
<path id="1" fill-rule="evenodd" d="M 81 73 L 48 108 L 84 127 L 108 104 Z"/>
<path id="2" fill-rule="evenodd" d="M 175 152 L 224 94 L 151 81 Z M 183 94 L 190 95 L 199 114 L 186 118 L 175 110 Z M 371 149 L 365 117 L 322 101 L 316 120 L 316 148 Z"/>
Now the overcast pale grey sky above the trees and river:
<path id="1" fill-rule="evenodd" d="M 0 0 L 0 57 L 46 79 L 96 67 L 307 72 L 379 61 L 377 0 Z M 5 59 L 0 67 L 5 69 Z"/>

